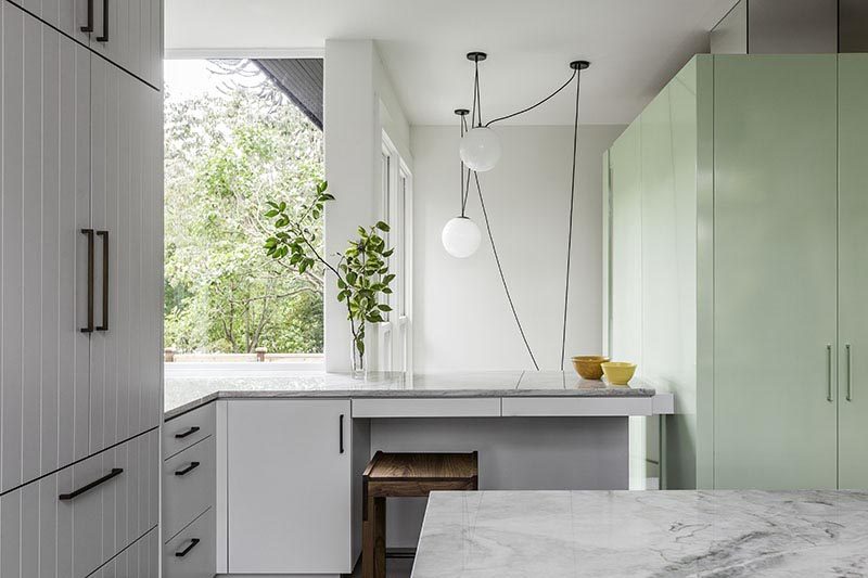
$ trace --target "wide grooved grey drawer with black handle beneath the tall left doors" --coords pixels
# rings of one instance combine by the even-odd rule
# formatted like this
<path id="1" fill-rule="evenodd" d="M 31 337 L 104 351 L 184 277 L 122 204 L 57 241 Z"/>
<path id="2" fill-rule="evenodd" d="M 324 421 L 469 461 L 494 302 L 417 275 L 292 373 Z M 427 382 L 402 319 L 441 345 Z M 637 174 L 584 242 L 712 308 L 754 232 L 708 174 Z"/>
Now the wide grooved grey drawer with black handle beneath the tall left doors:
<path id="1" fill-rule="evenodd" d="M 115 467 L 123 472 L 75 497 L 68 496 Z M 157 432 L 153 431 L 2 496 L 0 576 L 91 575 L 155 528 L 158 467 Z M 152 534 L 157 540 L 156 531 Z M 151 568 L 157 565 L 157 553 L 153 551 Z M 110 573 L 104 574 L 106 578 L 156 576 L 155 569 L 152 574 L 105 571 Z"/>

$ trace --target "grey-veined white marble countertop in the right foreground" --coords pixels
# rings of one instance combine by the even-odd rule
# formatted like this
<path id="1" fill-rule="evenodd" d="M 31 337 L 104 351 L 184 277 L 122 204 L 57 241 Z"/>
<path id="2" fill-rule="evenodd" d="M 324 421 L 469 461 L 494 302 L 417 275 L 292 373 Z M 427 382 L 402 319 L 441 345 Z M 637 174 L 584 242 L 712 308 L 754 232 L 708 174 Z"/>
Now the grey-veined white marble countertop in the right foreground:
<path id="1" fill-rule="evenodd" d="M 865 576 L 868 492 L 434 492 L 412 578 Z"/>

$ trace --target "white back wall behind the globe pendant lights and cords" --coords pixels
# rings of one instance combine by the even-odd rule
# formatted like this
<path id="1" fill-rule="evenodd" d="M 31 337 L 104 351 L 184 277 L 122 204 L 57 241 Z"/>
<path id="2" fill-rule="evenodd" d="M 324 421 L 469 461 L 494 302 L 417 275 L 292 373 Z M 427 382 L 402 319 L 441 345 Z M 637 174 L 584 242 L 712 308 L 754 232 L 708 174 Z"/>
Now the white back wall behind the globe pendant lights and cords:
<path id="1" fill-rule="evenodd" d="M 602 350 L 601 158 L 620 125 L 579 129 L 566 355 Z M 540 369 L 560 369 L 572 127 L 498 127 L 503 155 L 480 179 L 500 260 Z M 455 259 L 441 230 L 459 213 L 458 127 L 411 127 L 414 158 L 413 355 L 417 371 L 533 369 L 483 231 Z M 569 359 L 566 360 L 569 367 Z"/>

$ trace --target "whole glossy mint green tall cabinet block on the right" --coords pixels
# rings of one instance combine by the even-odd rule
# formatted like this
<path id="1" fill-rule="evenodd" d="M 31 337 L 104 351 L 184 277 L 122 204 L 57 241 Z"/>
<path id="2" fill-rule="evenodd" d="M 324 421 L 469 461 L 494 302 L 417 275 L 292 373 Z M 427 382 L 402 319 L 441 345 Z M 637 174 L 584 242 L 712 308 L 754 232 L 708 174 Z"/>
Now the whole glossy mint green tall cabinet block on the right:
<path id="1" fill-rule="evenodd" d="M 867 94 L 866 54 L 699 55 L 610 150 L 610 339 L 676 394 L 669 488 L 868 488 Z"/>

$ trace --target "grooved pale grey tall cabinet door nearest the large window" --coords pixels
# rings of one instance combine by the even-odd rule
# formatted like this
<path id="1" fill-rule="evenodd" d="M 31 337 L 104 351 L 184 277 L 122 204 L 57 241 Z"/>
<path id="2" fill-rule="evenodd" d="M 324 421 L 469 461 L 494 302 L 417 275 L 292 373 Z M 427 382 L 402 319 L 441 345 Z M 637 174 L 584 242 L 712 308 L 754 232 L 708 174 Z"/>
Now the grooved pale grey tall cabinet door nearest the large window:
<path id="1" fill-rule="evenodd" d="M 159 423 L 162 185 L 159 92 L 91 62 L 95 324 L 90 451 Z"/>

